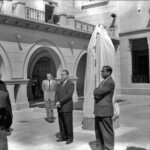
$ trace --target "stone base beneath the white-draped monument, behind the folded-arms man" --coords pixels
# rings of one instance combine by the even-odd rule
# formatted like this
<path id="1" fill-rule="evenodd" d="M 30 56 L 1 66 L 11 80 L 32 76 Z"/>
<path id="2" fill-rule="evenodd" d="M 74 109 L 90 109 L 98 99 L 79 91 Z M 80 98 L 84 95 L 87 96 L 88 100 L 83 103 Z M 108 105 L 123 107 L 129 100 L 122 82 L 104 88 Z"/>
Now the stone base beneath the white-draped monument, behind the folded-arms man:
<path id="1" fill-rule="evenodd" d="M 95 130 L 95 120 L 94 118 L 86 118 L 86 117 L 83 117 L 83 129 L 84 130 Z M 114 126 L 114 129 L 117 129 L 120 127 L 119 125 L 119 118 L 116 119 L 115 121 L 113 121 L 113 126 Z"/>

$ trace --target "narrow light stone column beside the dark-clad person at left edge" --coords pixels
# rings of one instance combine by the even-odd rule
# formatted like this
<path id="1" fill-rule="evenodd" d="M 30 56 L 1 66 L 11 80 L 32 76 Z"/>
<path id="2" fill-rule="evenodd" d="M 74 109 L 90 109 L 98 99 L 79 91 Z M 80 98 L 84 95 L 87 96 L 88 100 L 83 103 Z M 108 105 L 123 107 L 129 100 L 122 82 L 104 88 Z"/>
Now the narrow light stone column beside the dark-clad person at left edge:
<path id="1" fill-rule="evenodd" d="M 10 97 L 12 109 L 16 110 L 17 109 L 17 105 L 16 105 L 16 102 L 15 102 L 14 84 L 9 84 L 6 81 L 6 86 L 7 86 L 8 92 L 9 92 L 9 97 Z"/>

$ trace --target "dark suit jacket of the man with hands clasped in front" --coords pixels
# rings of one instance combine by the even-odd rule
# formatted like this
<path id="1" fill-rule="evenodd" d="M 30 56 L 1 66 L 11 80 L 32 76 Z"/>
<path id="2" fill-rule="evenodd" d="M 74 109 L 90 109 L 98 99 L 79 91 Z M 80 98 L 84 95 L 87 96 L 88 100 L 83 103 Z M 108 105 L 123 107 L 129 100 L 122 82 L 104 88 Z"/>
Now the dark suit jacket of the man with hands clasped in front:
<path id="1" fill-rule="evenodd" d="M 74 92 L 74 83 L 69 79 L 67 80 L 64 86 L 62 82 L 58 84 L 55 94 L 55 101 L 60 102 L 61 107 L 58 108 L 59 112 L 72 112 L 73 92 Z"/>

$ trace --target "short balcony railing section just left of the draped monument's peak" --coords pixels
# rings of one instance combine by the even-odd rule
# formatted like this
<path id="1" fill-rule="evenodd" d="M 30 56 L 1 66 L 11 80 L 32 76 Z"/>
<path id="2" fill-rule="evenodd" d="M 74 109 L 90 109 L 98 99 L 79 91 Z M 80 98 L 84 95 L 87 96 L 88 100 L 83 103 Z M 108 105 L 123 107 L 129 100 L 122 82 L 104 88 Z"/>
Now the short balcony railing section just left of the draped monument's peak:
<path id="1" fill-rule="evenodd" d="M 93 32 L 95 25 L 88 24 L 79 20 L 75 20 L 75 28 L 78 30 Z"/>

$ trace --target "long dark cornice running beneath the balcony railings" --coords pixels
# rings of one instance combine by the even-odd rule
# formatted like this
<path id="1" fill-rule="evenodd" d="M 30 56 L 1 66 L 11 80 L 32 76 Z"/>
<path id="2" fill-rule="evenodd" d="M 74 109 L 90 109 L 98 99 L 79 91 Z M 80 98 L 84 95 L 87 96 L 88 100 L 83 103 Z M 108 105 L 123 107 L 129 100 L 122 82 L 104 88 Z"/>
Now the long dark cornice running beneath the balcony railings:
<path id="1" fill-rule="evenodd" d="M 68 28 L 62 27 L 60 25 L 31 20 L 27 18 L 16 17 L 12 15 L 6 15 L 3 13 L 0 13 L 0 24 L 40 30 L 43 32 L 50 32 L 50 33 L 55 33 L 55 34 L 62 34 L 65 36 L 71 36 L 71 37 L 88 39 L 88 40 L 90 39 L 91 34 L 92 34 L 87 31 L 80 31 L 77 29 L 69 28 L 69 27 Z"/>

